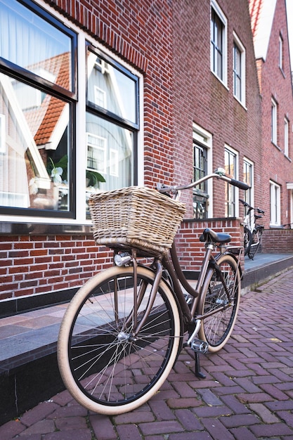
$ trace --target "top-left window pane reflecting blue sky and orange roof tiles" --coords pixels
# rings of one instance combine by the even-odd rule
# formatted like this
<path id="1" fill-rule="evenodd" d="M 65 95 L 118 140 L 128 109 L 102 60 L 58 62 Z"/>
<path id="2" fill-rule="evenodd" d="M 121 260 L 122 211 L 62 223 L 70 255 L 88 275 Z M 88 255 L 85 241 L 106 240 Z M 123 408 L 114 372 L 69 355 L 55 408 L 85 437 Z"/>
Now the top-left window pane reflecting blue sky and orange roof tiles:
<path id="1" fill-rule="evenodd" d="M 0 56 L 72 90 L 71 38 L 15 0 L 0 2 Z"/>

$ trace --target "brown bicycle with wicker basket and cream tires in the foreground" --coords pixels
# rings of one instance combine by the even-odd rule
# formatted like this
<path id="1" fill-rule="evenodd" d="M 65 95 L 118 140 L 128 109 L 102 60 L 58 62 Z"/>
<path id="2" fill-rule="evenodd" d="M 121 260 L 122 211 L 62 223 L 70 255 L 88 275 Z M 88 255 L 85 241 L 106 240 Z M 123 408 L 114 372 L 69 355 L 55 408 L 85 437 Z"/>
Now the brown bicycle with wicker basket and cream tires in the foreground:
<path id="1" fill-rule="evenodd" d="M 206 228 L 200 236 L 206 252 L 193 287 L 181 270 L 174 244 L 185 205 L 166 195 L 172 193 L 178 199 L 181 190 L 211 178 L 249 188 L 216 170 L 185 186 L 122 188 L 93 196 L 93 235 L 97 244 L 112 247 L 114 262 L 74 295 L 58 337 L 63 382 L 89 410 L 117 415 L 141 406 L 167 379 L 183 347 L 194 351 L 195 375 L 204 377 L 198 355 L 208 350 L 216 353 L 230 337 L 240 304 L 242 247 L 227 245 L 231 240 L 227 233 Z M 133 206 L 127 205 L 127 198 L 140 199 L 134 201 L 138 204 L 135 222 L 129 220 Z M 104 205 L 113 206 L 112 212 L 105 208 L 105 215 L 103 200 L 107 200 Z M 145 205 L 155 207 L 155 217 L 142 211 Z M 121 228 L 123 206 L 128 216 Z M 104 224 L 110 217 L 119 224 L 114 228 L 119 229 L 115 234 L 120 238 L 113 238 L 108 231 L 112 225 Z M 144 231 L 147 226 L 138 226 L 134 237 L 121 238 L 123 228 L 128 232 L 131 224 L 141 225 L 145 218 L 152 223 L 150 230 L 159 224 L 150 240 L 140 238 L 150 234 Z M 164 228 L 164 233 L 172 229 L 170 237 L 157 240 Z M 214 247 L 219 248 L 216 254 Z"/>

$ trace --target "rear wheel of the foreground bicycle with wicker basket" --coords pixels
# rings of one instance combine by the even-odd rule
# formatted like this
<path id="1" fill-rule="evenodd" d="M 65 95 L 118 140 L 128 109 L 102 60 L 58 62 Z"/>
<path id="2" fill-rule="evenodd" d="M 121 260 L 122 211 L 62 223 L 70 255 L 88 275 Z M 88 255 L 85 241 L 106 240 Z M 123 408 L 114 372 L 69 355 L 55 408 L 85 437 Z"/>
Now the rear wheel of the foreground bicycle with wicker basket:
<path id="1" fill-rule="evenodd" d="M 199 331 L 200 339 L 209 344 L 209 352 L 211 353 L 221 350 L 228 341 L 237 318 L 241 295 L 241 276 L 235 258 L 230 254 L 223 254 L 217 260 L 217 264 L 226 281 L 230 293 L 230 303 L 219 278 L 219 273 L 215 268 L 209 268 L 203 285 L 204 294 L 198 309 L 202 315 L 215 311 L 211 316 L 202 320 Z"/>

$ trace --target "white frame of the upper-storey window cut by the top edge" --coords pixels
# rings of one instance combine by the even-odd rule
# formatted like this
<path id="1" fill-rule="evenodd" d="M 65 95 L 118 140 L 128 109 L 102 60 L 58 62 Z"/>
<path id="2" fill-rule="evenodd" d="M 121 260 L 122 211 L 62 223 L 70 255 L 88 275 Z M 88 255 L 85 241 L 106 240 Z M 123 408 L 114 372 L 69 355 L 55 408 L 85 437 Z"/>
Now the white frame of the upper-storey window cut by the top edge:
<path id="1" fill-rule="evenodd" d="M 221 81 L 226 87 L 227 87 L 227 28 L 228 28 L 228 20 L 226 18 L 226 15 L 221 10 L 219 4 L 216 3 L 215 0 L 211 0 L 211 9 L 214 9 L 214 12 L 216 15 L 218 15 L 219 20 L 223 24 L 223 32 L 222 32 L 222 41 L 223 41 L 223 47 L 222 47 L 222 71 L 223 71 L 223 78 L 219 77 L 215 71 L 214 66 L 214 43 L 211 39 L 212 37 L 212 29 L 211 29 L 211 35 L 210 35 L 210 41 L 211 41 L 211 72 Z M 211 27 L 211 11 L 210 11 L 210 27 Z"/>

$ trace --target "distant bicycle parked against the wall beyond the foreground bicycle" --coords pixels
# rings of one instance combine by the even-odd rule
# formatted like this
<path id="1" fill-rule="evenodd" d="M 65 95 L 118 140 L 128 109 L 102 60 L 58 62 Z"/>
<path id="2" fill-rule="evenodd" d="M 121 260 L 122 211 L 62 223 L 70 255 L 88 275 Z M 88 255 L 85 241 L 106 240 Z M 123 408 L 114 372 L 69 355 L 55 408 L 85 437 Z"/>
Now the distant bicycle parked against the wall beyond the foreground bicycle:
<path id="1" fill-rule="evenodd" d="M 261 245 L 261 237 L 264 230 L 264 226 L 256 224 L 256 221 L 262 219 L 264 211 L 263 209 L 252 207 L 249 203 L 245 202 L 245 200 L 239 199 L 239 201 L 247 209 L 243 221 L 245 255 L 250 259 L 254 259 Z M 254 211 L 253 216 L 252 211 Z M 256 212 L 260 215 L 256 214 Z"/>

